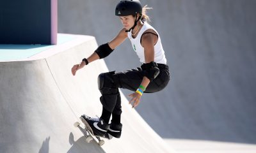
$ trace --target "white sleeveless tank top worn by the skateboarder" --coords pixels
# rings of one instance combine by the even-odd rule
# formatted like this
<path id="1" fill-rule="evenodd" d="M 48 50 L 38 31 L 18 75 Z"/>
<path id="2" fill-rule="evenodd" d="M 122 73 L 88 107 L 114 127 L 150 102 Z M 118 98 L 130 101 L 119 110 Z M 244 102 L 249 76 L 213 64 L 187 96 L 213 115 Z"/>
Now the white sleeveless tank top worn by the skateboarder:
<path id="1" fill-rule="evenodd" d="M 136 38 L 132 38 L 131 31 L 127 33 L 129 40 L 131 40 L 132 48 L 136 52 L 138 57 L 140 58 L 141 63 L 145 63 L 144 48 L 141 46 L 141 43 L 140 43 L 141 35 L 148 29 L 153 29 L 154 31 L 156 31 L 156 29 L 154 29 L 154 27 L 149 25 L 147 22 L 144 22 L 144 24 L 142 25 Z M 157 33 L 157 31 L 156 31 L 156 33 Z M 154 62 L 166 64 L 166 58 L 164 55 L 164 49 L 162 47 L 161 38 L 158 33 L 157 33 L 157 35 L 158 35 L 158 40 L 157 40 L 156 45 L 154 46 L 154 52 L 155 52 Z"/>

